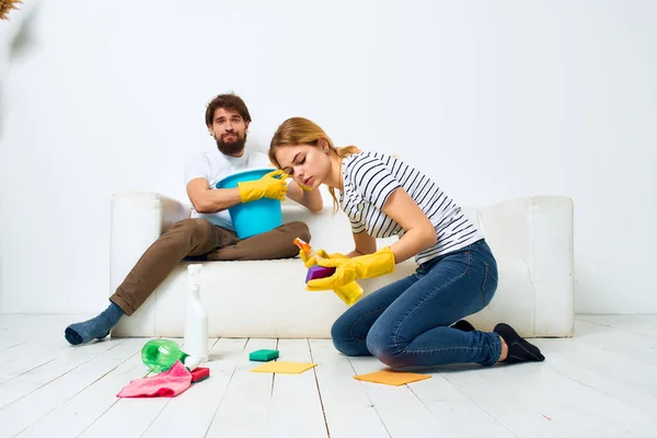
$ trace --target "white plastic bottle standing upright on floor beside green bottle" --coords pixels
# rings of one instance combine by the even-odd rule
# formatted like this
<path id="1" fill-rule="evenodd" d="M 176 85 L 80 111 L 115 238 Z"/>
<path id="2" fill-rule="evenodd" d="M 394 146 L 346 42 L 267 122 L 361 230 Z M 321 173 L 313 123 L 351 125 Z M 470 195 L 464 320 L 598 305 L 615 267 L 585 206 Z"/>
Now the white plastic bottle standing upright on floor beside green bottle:
<path id="1" fill-rule="evenodd" d="M 187 316 L 185 318 L 185 344 L 183 351 L 189 356 L 208 360 L 208 313 L 200 302 L 200 269 L 203 265 L 187 266 L 188 288 Z"/>

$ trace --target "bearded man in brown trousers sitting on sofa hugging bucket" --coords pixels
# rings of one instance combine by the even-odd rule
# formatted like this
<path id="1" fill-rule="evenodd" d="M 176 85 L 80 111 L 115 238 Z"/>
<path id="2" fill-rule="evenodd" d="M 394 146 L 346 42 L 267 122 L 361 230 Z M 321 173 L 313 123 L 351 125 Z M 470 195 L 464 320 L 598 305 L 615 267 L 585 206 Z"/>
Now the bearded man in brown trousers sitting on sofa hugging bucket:
<path id="1" fill-rule="evenodd" d="M 310 241 L 308 226 L 289 222 L 247 239 L 235 234 L 228 208 L 263 197 L 285 196 L 311 211 L 323 207 L 319 191 L 286 181 L 283 171 L 235 188 L 215 188 L 217 182 L 239 171 L 268 166 L 267 154 L 246 148 L 251 115 L 244 101 L 234 94 L 220 94 L 207 106 L 206 126 L 217 148 L 200 153 L 185 168 L 192 214 L 169 228 L 139 258 L 132 270 L 110 297 L 110 307 L 97 316 L 71 324 L 65 337 L 71 345 L 102 339 L 125 315 L 131 315 L 183 260 L 247 261 L 293 257 L 299 249 L 295 238 Z M 183 292 L 181 290 L 181 292 Z"/>

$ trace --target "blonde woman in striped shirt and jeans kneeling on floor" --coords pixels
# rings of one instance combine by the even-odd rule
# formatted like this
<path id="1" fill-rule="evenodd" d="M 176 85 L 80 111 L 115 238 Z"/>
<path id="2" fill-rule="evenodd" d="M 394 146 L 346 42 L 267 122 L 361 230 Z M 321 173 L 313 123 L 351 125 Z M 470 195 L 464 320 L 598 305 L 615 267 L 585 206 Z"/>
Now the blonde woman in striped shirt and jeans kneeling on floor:
<path id="1" fill-rule="evenodd" d="M 302 186 L 327 185 L 351 222 L 355 250 L 346 256 L 322 250 L 328 260 L 319 263 L 336 272 L 309 281 L 309 289 L 385 275 L 411 257 L 418 265 L 415 274 L 362 298 L 337 319 L 331 335 L 339 351 L 373 355 L 392 368 L 544 360 L 508 324 L 486 333 L 459 321 L 491 302 L 497 264 L 480 231 L 430 177 L 383 153 L 335 148 L 322 128 L 302 117 L 278 127 L 269 159 Z M 377 249 L 377 238 L 391 235 L 400 239 Z"/>

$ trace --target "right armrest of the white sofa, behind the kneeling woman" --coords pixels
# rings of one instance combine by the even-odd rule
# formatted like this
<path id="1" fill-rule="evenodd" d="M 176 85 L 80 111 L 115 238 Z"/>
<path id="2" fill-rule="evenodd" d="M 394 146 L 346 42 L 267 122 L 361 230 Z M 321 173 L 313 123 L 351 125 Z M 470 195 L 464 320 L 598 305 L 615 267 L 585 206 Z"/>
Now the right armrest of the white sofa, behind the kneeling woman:
<path id="1" fill-rule="evenodd" d="M 573 200 L 535 196 L 482 207 L 476 222 L 498 260 L 521 261 L 534 287 L 535 336 L 573 334 Z"/>

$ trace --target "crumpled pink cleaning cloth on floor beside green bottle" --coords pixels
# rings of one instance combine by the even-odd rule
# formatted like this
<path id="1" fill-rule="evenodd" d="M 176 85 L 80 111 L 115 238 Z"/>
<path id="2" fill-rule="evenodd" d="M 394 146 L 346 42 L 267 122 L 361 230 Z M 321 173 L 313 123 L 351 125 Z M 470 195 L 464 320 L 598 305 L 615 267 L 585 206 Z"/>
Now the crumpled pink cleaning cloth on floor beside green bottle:
<path id="1" fill-rule="evenodd" d="M 132 380 L 116 396 L 153 397 L 176 396 L 192 385 L 192 373 L 178 360 L 169 371 L 153 377 Z"/>

